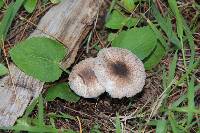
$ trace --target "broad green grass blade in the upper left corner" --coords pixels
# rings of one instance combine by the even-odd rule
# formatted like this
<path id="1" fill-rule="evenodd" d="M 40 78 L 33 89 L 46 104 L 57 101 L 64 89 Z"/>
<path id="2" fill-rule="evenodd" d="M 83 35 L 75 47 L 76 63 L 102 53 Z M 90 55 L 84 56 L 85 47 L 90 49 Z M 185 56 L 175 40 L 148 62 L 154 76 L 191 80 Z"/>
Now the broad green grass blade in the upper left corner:
<path id="1" fill-rule="evenodd" d="M 0 46 L 2 45 L 2 41 L 4 41 L 6 38 L 8 29 L 10 28 L 11 23 L 23 2 L 24 0 L 16 0 L 15 3 L 11 3 L 8 6 L 8 9 L 6 10 L 5 15 L 0 23 Z"/>

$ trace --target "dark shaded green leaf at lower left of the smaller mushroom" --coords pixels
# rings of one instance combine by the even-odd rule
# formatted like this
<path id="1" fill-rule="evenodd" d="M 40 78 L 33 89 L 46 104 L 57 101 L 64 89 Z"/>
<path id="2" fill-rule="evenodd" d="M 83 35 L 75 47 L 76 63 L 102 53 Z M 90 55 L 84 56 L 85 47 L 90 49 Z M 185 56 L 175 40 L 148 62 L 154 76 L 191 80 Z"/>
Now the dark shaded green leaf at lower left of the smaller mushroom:
<path id="1" fill-rule="evenodd" d="M 80 99 L 79 96 L 71 91 L 66 83 L 61 83 L 48 89 L 46 95 L 47 101 L 53 101 L 57 97 L 69 102 L 77 102 Z"/>

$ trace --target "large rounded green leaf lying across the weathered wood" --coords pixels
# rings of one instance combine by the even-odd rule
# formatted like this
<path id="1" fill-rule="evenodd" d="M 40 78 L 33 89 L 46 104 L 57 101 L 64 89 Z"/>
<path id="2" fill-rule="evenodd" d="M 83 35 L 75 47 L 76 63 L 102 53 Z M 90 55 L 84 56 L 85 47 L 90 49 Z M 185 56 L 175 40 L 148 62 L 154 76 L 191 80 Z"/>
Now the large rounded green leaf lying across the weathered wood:
<path id="1" fill-rule="evenodd" d="M 22 71 L 45 82 L 55 81 L 61 76 L 59 62 L 65 53 L 62 44 L 44 37 L 27 39 L 10 50 L 12 60 Z"/>

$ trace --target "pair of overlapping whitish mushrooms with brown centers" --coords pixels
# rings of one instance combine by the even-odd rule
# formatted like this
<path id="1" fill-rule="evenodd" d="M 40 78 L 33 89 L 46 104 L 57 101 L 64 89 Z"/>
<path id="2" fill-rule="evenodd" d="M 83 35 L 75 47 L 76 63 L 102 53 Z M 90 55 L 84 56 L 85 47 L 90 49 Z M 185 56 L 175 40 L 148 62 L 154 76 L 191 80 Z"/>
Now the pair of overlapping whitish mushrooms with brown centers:
<path id="1" fill-rule="evenodd" d="M 110 47 L 96 58 L 87 58 L 74 66 L 69 75 L 71 89 L 84 98 L 95 98 L 105 91 L 113 98 L 132 97 L 145 84 L 142 61 L 131 51 Z"/>

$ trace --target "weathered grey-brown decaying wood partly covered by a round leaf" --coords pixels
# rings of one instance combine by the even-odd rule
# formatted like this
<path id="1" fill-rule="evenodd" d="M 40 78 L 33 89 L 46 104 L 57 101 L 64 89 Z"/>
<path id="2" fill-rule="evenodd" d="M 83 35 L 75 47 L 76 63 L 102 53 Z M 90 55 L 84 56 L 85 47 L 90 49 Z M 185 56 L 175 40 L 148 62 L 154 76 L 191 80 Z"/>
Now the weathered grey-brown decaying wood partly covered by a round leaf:
<path id="1" fill-rule="evenodd" d="M 98 14 L 101 0 L 65 0 L 51 8 L 32 36 L 47 36 L 62 42 L 68 54 L 62 62 L 68 68 Z M 0 79 L 0 126 L 11 126 L 28 104 L 41 93 L 44 82 L 10 64 L 10 75 Z"/>

